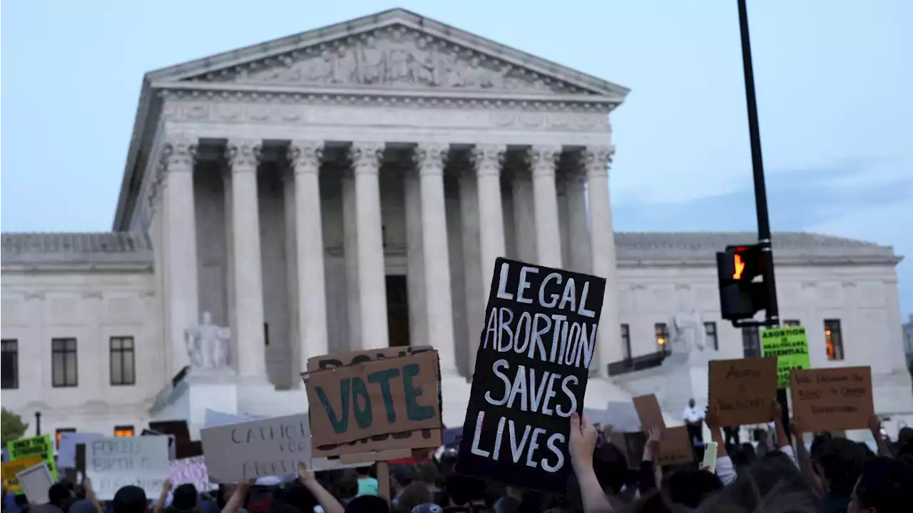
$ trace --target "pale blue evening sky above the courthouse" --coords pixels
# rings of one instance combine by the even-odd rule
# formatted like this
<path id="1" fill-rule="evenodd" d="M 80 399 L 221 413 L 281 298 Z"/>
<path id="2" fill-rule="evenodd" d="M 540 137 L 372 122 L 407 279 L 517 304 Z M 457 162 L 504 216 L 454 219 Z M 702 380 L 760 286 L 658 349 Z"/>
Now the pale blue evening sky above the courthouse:
<path id="1" fill-rule="evenodd" d="M 144 72 L 394 6 L 633 89 L 613 115 L 617 229 L 755 228 L 735 0 L 37 0 L 0 16 L 0 230 L 110 229 Z M 913 260 L 913 2 L 749 13 L 773 229 Z M 899 275 L 906 317 L 913 263 Z"/>

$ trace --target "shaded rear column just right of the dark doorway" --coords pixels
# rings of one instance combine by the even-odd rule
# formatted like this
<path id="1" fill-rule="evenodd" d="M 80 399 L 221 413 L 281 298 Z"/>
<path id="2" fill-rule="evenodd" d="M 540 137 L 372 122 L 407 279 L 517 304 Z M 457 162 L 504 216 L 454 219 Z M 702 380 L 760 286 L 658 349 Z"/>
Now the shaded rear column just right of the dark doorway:
<path id="1" fill-rule="evenodd" d="M 425 308 L 425 253 L 422 249 L 422 190 L 411 162 L 404 168 L 406 288 L 409 298 L 409 343 L 428 344 Z"/>

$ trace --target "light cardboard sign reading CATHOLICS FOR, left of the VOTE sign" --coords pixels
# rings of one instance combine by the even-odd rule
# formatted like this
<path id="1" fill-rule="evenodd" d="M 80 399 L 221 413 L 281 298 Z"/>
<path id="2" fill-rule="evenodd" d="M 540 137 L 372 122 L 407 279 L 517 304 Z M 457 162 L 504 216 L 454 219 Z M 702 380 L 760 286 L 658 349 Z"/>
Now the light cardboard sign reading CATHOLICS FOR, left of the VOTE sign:
<path id="1" fill-rule="evenodd" d="M 214 483 L 295 476 L 300 462 L 310 463 L 307 414 L 207 427 L 200 430 L 200 438 Z"/>

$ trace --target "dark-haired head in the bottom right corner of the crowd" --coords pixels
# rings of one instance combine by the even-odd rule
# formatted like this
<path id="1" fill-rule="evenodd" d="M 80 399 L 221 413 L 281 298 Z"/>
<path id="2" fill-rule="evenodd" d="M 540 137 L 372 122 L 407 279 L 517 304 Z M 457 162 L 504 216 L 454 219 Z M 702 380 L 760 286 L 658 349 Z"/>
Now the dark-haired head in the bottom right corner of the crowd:
<path id="1" fill-rule="evenodd" d="M 900 513 L 913 505 L 913 467 L 887 457 L 862 467 L 847 513 Z"/>

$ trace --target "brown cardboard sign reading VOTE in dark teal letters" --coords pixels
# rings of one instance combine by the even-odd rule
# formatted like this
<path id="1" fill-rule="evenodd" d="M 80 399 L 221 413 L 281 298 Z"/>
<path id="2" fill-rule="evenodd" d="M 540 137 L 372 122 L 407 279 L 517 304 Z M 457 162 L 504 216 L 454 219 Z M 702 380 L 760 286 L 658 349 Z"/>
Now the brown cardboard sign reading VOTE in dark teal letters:
<path id="1" fill-rule="evenodd" d="M 321 455 L 332 455 L 332 445 L 441 427 L 437 351 L 309 372 L 306 383 L 311 441 Z M 412 448 L 409 438 L 395 448 Z"/>

